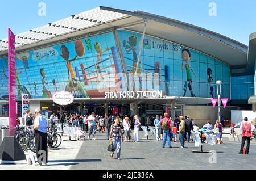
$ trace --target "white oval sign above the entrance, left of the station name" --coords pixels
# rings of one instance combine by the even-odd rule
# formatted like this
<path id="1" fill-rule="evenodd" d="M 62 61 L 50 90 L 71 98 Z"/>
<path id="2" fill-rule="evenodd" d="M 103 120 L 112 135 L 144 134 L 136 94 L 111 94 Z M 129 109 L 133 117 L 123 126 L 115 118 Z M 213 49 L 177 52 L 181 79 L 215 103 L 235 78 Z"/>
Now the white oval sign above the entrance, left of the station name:
<path id="1" fill-rule="evenodd" d="M 52 100 L 56 104 L 65 106 L 71 104 L 74 101 L 74 96 L 68 91 L 57 91 L 52 95 Z"/>

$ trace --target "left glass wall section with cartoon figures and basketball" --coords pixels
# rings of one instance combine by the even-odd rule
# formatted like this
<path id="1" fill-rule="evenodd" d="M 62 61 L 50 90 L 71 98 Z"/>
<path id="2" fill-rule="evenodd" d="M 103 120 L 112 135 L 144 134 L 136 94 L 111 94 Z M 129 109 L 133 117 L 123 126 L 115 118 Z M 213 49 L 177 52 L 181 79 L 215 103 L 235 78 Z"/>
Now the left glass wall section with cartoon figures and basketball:
<path id="1" fill-rule="evenodd" d="M 0 60 L 0 99 L 8 99 L 7 58 Z M 32 50 L 16 55 L 17 98 L 51 98 L 67 90 L 76 98 L 104 97 L 121 71 L 113 33 Z M 125 87 L 124 87 L 125 89 Z"/>

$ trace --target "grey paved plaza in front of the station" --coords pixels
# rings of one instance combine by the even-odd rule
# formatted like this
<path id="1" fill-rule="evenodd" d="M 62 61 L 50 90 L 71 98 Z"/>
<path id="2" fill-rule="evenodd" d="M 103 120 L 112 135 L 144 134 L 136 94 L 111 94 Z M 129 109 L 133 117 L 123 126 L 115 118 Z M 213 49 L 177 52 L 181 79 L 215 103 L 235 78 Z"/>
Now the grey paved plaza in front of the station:
<path id="1" fill-rule="evenodd" d="M 241 142 L 230 139 L 230 128 L 224 129 L 222 145 L 203 145 L 203 150 L 209 153 L 192 153 L 200 151 L 194 142 L 185 142 L 185 148 L 180 149 L 180 142 L 171 142 L 173 148 L 162 148 L 162 141 L 156 141 L 155 136 L 144 137 L 144 132 L 139 131 L 140 141 L 122 143 L 121 158 L 119 161 L 110 158 L 109 141 L 105 133 L 96 133 L 96 140 L 63 141 L 59 149 L 49 149 L 47 166 L 34 165 L 0 165 L 6 170 L 229 170 L 229 169 L 256 169 L 256 141 L 251 141 L 250 153 L 240 155 Z M 237 130 L 238 132 L 238 130 Z M 86 133 L 87 138 L 88 133 Z M 69 140 L 69 137 L 63 137 Z M 241 141 L 241 138 L 240 138 Z"/>

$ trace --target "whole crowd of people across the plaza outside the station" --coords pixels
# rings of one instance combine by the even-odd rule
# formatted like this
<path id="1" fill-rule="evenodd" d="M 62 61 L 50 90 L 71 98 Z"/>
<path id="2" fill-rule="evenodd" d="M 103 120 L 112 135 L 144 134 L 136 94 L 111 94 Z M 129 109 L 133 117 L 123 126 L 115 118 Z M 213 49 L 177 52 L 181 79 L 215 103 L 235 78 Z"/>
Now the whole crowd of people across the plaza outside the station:
<path id="1" fill-rule="evenodd" d="M 35 115 L 32 115 L 29 111 L 25 113 L 26 119 L 26 127 L 32 128 L 36 133 L 36 150 L 38 157 L 40 154 L 39 150 L 45 150 L 47 154 L 47 137 L 46 137 L 46 128 L 47 128 L 47 120 L 43 118 L 42 112 L 40 110 L 36 110 Z M 53 113 L 49 120 L 51 123 L 51 128 L 54 129 L 56 115 Z M 139 130 L 141 126 L 154 126 L 155 127 L 155 139 L 157 141 L 162 140 L 163 148 L 166 146 L 166 141 L 168 142 L 168 148 L 172 148 L 171 142 L 177 143 L 177 134 L 179 134 L 179 142 L 180 148 L 185 148 L 185 142 L 193 141 L 191 137 L 191 132 L 212 132 L 216 135 L 217 142 L 216 144 L 222 144 L 222 132 L 223 125 L 220 120 L 217 120 L 214 124 L 212 121 L 208 120 L 205 125 L 200 129 L 196 124 L 196 121 L 191 119 L 189 115 L 183 116 L 175 116 L 175 119 L 172 120 L 169 117 L 168 113 L 164 113 L 164 115 L 156 115 L 156 116 L 147 116 L 146 122 L 141 120 L 141 117 L 135 115 L 133 117 L 125 116 L 112 116 L 105 114 L 96 115 L 94 112 L 90 113 L 90 115 L 77 115 L 77 114 L 66 114 L 60 119 L 62 123 L 66 121 L 66 123 L 80 129 L 88 133 L 88 140 L 92 136 L 92 140 L 96 140 L 96 132 L 106 133 L 106 140 L 109 140 L 111 144 L 114 145 L 115 152 L 117 152 L 117 158 L 121 159 L 121 143 L 131 141 L 131 128 L 134 128 L 133 136 L 134 142 L 139 142 Z M 230 134 L 234 134 L 233 124 L 230 128 Z M 243 120 L 240 126 L 242 132 L 242 144 L 240 154 L 248 154 L 250 148 L 250 138 L 252 136 L 251 133 L 255 131 L 255 126 L 248 122 L 247 117 Z M 247 146 L 244 148 L 245 141 L 247 141 Z M 205 141 L 206 142 L 206 141 Z M 114 152 L 110 154 L 110 157 L 113 158 Z M 44 163 L 39 163 L 39 165 L 46 165 L 46 161 Z"/>

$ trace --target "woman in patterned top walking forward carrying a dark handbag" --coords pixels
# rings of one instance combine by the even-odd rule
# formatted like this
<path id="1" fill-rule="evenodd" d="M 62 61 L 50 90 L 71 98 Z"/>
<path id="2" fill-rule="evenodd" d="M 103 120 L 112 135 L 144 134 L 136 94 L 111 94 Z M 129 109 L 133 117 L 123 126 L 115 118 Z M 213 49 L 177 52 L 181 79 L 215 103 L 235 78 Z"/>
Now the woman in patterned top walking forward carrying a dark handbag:
<path id="1" fill-rule="evenodd" d="M 121 140 L 121 137 L 122 137 L 122 140 Z M 123 142 L 123 134 L 120 127 L 119 118 L 116 118 L 115 123 L 111 125 L 109 141 L 113 142 L 115 151 L 117 151 L 117 159 L 121 160 L 121 146 L 122 146 L 121 141 Z M 111 158 L 113 158 L 113 154 L 114 152 L 110 154 Z"/>

